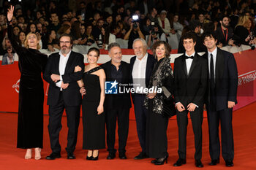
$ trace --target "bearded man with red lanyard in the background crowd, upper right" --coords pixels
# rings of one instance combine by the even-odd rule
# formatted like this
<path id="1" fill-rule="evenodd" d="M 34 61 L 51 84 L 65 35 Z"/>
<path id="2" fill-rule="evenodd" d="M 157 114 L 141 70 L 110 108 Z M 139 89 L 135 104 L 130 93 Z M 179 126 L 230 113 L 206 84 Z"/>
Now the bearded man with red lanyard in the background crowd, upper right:
<path id="1" fill-rule="evenodd" d="M 227 45 L 234 45 L 233 36 L 233 28 L 230 27 L 230 20 L 227 16 L 223 16 L 219 20 L 220 26 L 217 27 L 217 45 L 219 47 L 225 47 Z"/>

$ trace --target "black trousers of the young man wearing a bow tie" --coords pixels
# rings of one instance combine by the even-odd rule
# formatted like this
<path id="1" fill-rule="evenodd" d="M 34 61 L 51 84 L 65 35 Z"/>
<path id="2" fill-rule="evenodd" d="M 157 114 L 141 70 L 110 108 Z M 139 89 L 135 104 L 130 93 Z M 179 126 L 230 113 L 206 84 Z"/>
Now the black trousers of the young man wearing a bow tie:
<path id="1" fill-rule="evenodd" d="M 187 155 L 187 125 L 189 111 L 178 112 L 177 110 L 177 123 L 178 123 L 178 156 L 179 158 L 186 159 Z M 195 135 L 195 160 L 202 158 L 202 123 L 203 123 L 203 107 L 198 107 L 194 112 L 190 112 L 192 121 L 192 128 Z"/>

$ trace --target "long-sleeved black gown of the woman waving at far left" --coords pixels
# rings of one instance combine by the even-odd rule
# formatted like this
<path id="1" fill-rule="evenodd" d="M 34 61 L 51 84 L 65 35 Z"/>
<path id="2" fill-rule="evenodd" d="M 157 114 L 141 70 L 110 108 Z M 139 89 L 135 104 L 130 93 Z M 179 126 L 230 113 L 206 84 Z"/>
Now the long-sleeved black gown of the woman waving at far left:
<path id="1" fill-rule="evenodd" d="M 12 26 L 8 26 L 8 37 L 18 54 L 20 90 L 18 106 L 18 148 L 42 148 L 44 89 L 42 72 L 47 55 L 38 50 L 21 47 L 15 42 Z"/>

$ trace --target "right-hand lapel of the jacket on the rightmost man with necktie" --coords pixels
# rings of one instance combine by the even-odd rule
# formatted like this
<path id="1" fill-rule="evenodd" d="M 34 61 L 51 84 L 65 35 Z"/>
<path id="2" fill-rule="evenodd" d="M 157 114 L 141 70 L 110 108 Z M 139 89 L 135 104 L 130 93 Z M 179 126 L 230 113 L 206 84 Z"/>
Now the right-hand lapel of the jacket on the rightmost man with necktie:
<path id="1" fill-rule="evenodd" d="M 220 78 L 223 75 L 224 72 L 224 57 L 222 54 L 222 50 L 217 48 L 217 56 L 216 56 L 216 69 L 215 69 L 215 74 L 216 74 L 216 85 L 217 81 L 220 80 Z"/>

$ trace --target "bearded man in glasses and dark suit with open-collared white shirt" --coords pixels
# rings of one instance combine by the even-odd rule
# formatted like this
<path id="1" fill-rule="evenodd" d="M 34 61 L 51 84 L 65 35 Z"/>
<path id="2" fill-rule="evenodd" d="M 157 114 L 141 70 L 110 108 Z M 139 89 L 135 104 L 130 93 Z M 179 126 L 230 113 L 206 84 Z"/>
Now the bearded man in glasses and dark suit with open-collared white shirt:
<path id="1" fill-rule="evenodd" d="M 43 75 L 49 82 L 49 135 L 50 147 L 53 151 L 46 157 L 48 160 L 61 157 L 61 145 L 59 144 L 59 132 L 61 131 L 61 117 L 64 109 L 67 113 L 67 158 L 75 159 L 73 154 L 78 138 L 78 125 L 80 119 L 81 95 L 77 81 L 83 76 L 83 55 L 71 50 L 72 38 L 63 34 L 59 39 L 61 51 L 53 53 L 48 58 L 48 63 Z M 74 72 L 75 66 L 80 66 L 80 72 Z"/>

